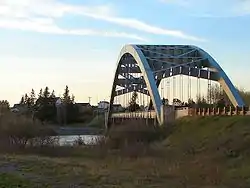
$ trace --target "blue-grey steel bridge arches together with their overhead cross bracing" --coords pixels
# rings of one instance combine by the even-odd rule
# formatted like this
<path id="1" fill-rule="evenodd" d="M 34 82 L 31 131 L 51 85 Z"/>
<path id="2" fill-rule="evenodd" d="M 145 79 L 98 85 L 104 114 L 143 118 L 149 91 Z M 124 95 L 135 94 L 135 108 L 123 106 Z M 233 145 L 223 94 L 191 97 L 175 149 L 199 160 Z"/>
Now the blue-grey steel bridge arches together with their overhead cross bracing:
<path id="1" fill-rule="evenodd" d="M 141 73 L 142 76 L 136 78 L 133 73 Z M 112 114 L 114 97 L 136 91 L 150 96 L 157 121 L 162 124 L 162 100 L 158 86 L 162 79 L 176 75 L 217 81 L 235 107 L 245 106 L 220 65 L 201 48 L 192 45 L 125 45 L 118 57 L 108 119 Z"/>

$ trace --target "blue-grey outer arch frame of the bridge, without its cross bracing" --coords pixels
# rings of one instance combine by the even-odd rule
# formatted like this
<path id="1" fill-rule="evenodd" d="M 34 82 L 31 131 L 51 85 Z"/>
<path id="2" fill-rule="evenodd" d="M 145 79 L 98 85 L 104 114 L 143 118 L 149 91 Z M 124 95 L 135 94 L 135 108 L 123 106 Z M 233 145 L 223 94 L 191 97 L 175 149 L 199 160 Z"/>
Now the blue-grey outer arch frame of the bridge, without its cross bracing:
<path id="1" fill-rule="evenodd" d="M 147 90 L 149 91 L 149 95 L 151 97 L 152 103 L 153 103 L 153 107 L 156 111 L 156 115 L 157 115 L 157 120 L 159 122 L 159 124 L 162 124 L 163 120 L 161 118 L 161 106 L 162 106 L 162 101 L 160 98 L 160 94 L 158 92 L 158 86 L 155 80 L 155 76 L 153 71 L 151 70 L 150 66 L 149 66 L 149 62 L 147 60 L 147 58 L 145 57 L 143 51 L 141 50 L 141 47 L 152 47 L 153 49 L 159 47 L 158 45 L 125 45 L 118 57 L 118 61 L 117 61 L 117 65 L 116 65 L 116 70 L 115 70 L 115 75 L 114 75 L 114 79 L 113 79 L 113 86 L 112 86 L 112 91 L 111 91 L 111 98 L 110 98 L 110 107 L 109 107 L 109 112 L 108 112 L 108 119 L 111 116 L 111 111 L 112 111 L 112 105 L 114 102 L 114 96 L 115 96 L 115 92 L 116 92 L 116 83 L 118 80 L 118 75 L 119 75 L 119 65 L 122 61 L 122 57 L 125 54 L 130 54 L 134 60 L 136 61 L 136 63 L 138 64 L 142 76 L 145 80 L 146 83 L 146 87 Z M 228 95 L 230 101 L 232 102 L 232 104 L 236 107 L 243 107 L 245 106 L 244 101 L 242 100 L 241 96 L 239 95 L 237 89 L 234 87 L 234 85 L 232 84 L 232 82 L 230 81 L 230 79 L 228 78 L 228 76 L 226 75 L 226 73 L 223 71 L 223 69 L 220 67 L 220 65 L 204 50 L 202 50 L 201 48 L 197 47 L 197 46 L 184 46 L 184 45 L 162 45 L 162 47 L 165 48 L 174 48 L 174 49 L 180 49 L 180 48 L 184 48 L 184 47 L 188 47 L 191 49 L 191 51 L 196 50 L 199 53 L 199 56 L 202 57 L 202 59 L 206 59 L 209 63 L 209 67 L 213 68 L 216 70 L 217 72 L 217 77 L 218 77 L 218 82 L 222 85 L 222 88 L 224 89 L 224 91 L 226 92 L 226 94 Z M 186 53 L 185 53 L 186 54 Z M 151 57 L 152 58 L 152 57 Z M 178 56 L 177 56 L 178 58 Z"/>

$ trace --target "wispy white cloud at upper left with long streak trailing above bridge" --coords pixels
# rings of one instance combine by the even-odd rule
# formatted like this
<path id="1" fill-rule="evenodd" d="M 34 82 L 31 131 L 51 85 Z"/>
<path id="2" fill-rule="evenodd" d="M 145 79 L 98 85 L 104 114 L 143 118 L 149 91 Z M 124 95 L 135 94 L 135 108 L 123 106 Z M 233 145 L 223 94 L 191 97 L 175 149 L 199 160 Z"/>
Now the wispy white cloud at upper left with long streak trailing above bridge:
<path id="1" fill-rule="evenodd" d="M 90 29 L 67 30 L 55 24 L 55 20 L 66 14 L 81 15 L 96 20 L 101 20 L 141 32 L 166 35 L 193 41 L 204 39 L 189 35 L 179 30 L 164 29 L 147 24 L 133 18 L 117 17 L 111 6 L 74 6 L 60 3 L 57 0 L 1 0 L 0 1 L 0 26 L 15 29 L 25 29 L 36 32 L 72 35 L 100 35 L 125 37 L 145 41 L 141 36 L 124 32 L 94 31 Z M 4 17 L 4 18 L 1 18 Z M 26 19 L 26 20 L 24 20 Z M 10 21 L 11 20 L 11 21 Z M 6 23 L 9 21 L 9 23 Z M 25 25 L 26 27 L 24 28 Z"/>

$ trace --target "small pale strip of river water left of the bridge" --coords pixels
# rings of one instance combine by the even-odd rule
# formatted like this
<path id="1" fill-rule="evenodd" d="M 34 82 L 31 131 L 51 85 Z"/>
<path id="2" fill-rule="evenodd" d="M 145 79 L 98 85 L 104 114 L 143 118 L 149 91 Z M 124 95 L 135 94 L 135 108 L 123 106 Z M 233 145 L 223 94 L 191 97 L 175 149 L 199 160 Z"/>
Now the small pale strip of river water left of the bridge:
<path id="1" fill-rule="evenodd" d="M 96 144 L 98 140 L 102 138 L 100 135 L 68 135 L 68 136 L 58 136 L 58 144 L 60 146 L 73 145 L 79 138 L 87 145 Z"/>

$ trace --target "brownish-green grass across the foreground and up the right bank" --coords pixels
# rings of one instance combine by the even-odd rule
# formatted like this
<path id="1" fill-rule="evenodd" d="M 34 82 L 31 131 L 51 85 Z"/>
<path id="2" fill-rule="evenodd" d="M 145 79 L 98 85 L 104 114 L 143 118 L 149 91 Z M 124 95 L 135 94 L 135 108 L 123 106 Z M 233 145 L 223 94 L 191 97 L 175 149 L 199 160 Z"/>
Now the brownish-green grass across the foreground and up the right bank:
<path id="1" fill-rule="evenodd" d="M 249 146 L 250 117 L 183 118 L 146 149 L 2 152 L 0 187 L 249 187 Z"/>

